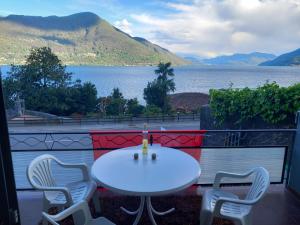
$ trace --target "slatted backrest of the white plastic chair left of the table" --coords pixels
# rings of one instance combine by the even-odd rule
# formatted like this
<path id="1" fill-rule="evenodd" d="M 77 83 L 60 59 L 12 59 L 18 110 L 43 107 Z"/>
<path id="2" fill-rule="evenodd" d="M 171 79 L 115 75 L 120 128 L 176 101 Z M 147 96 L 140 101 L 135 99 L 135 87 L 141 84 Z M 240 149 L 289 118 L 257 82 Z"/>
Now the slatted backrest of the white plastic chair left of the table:
<path id="1" fill-rule="evenodd" d="M 51 172 L 51 163 L 53 160 L 58 161 L 54 156 L 45 154 L 31 161 L 27 168 L 27 178 L 33 187 L 56 186 Z"/>

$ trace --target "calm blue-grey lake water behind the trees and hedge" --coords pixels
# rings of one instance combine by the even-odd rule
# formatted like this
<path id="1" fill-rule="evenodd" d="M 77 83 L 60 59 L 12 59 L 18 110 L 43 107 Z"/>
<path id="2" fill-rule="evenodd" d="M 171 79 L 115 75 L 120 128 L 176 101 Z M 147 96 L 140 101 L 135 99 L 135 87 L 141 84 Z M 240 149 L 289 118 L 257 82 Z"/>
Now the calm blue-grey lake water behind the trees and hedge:
<path id="1" fill-rule="evenodd" d="M 126 98 L 137 97 L 143 101 L 143 89 L 156 75 L 156 67 L 102 67 L 68 66 L 73 79 L 91 81 L 99 96 L 107 96 L 114 87 L 120 88 Z M 2 67 L 5 76 L 8 66 Z M 255 88 L 267 80 L 276 81 L 281 86 L 300 82 L 300 67 L 260 67 L 260 66 L 181 66 L 175 67 L 176 93 L 203 92 L 211 88 L 233 87 Z"/>

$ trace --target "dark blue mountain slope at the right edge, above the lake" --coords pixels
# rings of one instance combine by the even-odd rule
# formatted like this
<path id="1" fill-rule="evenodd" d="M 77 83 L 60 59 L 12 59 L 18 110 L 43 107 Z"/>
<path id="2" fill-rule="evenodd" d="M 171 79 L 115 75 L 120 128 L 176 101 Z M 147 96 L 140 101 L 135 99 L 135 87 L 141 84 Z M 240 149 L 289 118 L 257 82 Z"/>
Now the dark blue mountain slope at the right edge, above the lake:
<path id="1" fill-rule="evenodd" d="M 260 64 L 260 66 L 299 66 L 300 65 L 300 48 L 280 55 L 277 58 L 266 61 Z"/>

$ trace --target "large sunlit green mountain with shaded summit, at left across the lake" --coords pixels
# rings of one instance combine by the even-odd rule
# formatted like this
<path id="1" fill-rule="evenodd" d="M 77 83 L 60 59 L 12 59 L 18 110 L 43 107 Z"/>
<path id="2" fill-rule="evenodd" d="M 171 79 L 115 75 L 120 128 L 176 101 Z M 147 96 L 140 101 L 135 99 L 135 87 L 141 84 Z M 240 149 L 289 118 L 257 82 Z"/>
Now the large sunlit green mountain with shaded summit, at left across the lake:
<path id="1" fill-rule="evenodd" d="M 30 48 L 49 46 L 65 64 L 187 64 L 167 49 L 131 37 L 90 12 L 70 16 L 0 17 L 0 64 L 23 64 Z"/>

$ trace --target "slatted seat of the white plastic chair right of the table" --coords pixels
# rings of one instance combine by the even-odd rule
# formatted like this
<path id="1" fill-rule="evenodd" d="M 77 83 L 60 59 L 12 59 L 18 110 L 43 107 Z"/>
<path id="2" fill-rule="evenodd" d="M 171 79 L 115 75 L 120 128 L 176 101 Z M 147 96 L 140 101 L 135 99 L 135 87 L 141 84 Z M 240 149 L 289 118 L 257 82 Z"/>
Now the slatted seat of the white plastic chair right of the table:
<path id="1" fill-rule="evenodd" d="M 216 202 L 220 197 L 239 199 L 233 193 L 222 191 L 220 189 L 207 190 L 203 197 L 202 209 L 213 212 Z M 221 208 L 221 215 L 228 218 L 242 218 L 247 215 L 251 210 L 251 206 L 242 205 L 237 203 L 225 202 Z"/>

